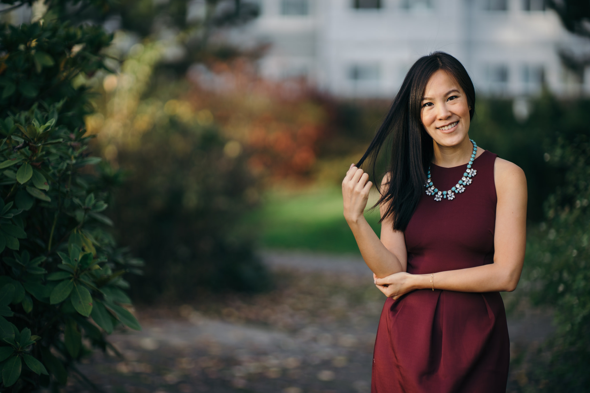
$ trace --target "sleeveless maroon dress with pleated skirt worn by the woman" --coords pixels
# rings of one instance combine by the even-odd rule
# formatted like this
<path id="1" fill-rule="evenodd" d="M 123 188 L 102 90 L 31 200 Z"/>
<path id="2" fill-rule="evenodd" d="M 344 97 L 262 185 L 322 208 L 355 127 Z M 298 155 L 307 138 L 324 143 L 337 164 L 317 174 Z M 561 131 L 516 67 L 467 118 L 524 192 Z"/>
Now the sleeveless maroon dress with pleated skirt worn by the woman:
<path id="1" fill-rule="evenodd" d="M 473 182 L 454 200 L 422 195 L 404 232 L 408 273 L 493 263 L 496 154 L 474 160 Z M 431 165 L 449 190 L 466 166 Z M 373 354 L 372 393 L 504 393 L 510 341 L 499 292 L 419 289 L 383 306 Z"/>

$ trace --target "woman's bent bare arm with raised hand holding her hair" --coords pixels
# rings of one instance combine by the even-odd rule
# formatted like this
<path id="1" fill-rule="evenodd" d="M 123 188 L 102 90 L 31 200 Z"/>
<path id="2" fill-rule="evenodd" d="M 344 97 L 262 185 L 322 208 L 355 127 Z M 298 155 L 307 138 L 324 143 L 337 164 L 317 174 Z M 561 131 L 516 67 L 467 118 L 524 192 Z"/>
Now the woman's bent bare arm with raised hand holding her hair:
<path id="1" fill-rule="evenodd" d="M 351 166 L 346 173 L 342 181 L 344 217 L 355 235 L 360 254 L 377 277 L 405 272 L 407 253 L 404 233 L 392 231 L 391 220 L 384 220 L 381 224 L 381 240 L 379 240 L 363 215 L 372 186 L 368 179 L 369 175 L 355 166 Z M 383 214 L 386 207 L 381 206 L 380 210 Z M 383 230 L 386 227 L 389 231 Z"/>

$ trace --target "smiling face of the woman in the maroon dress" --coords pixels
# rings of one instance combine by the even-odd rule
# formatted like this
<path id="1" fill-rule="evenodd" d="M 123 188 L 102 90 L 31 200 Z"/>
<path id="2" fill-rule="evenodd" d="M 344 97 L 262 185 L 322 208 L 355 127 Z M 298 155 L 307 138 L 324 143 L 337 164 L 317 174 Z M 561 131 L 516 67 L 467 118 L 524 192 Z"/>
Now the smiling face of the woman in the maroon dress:
<path id="1" fill-rule="evenodd" d="M 470 116 L 467 96 L 447 71 L 432 74 L 424 89 L 420 118 L 439 146 L 458 146 L 467 138 Z"/>

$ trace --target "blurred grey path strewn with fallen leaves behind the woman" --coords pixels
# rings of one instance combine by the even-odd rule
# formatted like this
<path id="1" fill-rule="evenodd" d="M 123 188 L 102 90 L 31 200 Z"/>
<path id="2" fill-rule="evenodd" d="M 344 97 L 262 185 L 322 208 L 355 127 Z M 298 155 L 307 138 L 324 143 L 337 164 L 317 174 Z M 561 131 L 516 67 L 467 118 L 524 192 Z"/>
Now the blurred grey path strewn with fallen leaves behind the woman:
<path id="1" fill-rule="evenodd" d="M 111 336 L 123 358 L 96 354 L 81 371 L 104 392 L 117 393 L 368 393 L 384 298 L 363 260 L 261 256 L 276 272 L 273 292 L 139 309 L 142 332 Z M 551 331 L 546 313 L 525 308 L 513 315 L 514 351 Z M 90 389 L 72 380 L 67 391 Z"/>

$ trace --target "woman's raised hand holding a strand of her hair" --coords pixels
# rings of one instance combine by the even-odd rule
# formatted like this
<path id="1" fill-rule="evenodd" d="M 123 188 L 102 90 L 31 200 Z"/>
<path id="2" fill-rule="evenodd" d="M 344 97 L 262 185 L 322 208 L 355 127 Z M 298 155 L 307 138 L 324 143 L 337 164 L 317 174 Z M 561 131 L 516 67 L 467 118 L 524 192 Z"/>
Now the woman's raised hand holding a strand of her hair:
<path id="1" fill-rule="evenodd" d="M 348 223 L 355 223 L 363 217 L 369 200 L 369 190 L 373 186 L 373 183 L 368 180 L 369 174 L 355 167 L 355 164 L 350 165 L 350 169 L 342 180 L 344 218 Z"/>

